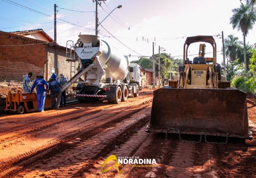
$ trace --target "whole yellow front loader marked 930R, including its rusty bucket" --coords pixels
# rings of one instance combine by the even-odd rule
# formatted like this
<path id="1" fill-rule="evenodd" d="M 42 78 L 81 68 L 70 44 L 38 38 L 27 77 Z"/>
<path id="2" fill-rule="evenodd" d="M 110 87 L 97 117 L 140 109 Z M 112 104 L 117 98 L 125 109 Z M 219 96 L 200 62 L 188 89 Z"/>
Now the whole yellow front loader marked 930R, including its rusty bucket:
<path id="1" fill-rule="evenodd" d="M 189 60 L 194 42 L 210 44 L 213 57 L 205 58 L 200 44 L 198 57 Z M 147 132 L 248 138 L 246 94 L 221 77 L 216 55 L 212 36 L 187 37 L 178 79 L 154 91 Z"/>

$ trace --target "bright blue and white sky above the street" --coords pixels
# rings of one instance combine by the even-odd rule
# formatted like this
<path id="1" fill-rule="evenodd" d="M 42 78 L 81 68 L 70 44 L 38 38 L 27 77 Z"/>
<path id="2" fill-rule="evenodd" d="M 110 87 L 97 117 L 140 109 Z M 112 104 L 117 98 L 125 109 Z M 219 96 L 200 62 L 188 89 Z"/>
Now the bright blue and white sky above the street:
<path id="1" fill-rule="evenodd" d="M 38 10 L 49 16 L 53 16 L 54 4 L 59 8 L 80 11 L 94 11 L 95 3 L 92 0 L 11 0 L 15 3 Z M 10 1 L 9 1 L 10 2 Z M 239 7 L 240 0 L 107 0 L 99 6 L 99 21 L 101 22 L 111 10 L 118 5 L 122 8 L 114 10 L 114 13 L 102 22 L 102 26 L 123 44 L 133 49 L 131 51 L 101 26 L 100 37 L 110 36 L 124 55 L 152 55 L 152 42 L 164 47 L 171 56 L 182 55 L 183 43 L 186 37 L 196 35 L 218 35 L 224 31 L 224 37 L 234 34 L 243 40 L 242 33 L 233 30 L 229 24 L 232 9 Z M 0 30 L 19 31 L 43 28 L 53 38 L 53 18 L 43 16 L 21 7 L 0 1 Z M 60 9 L 59 19 L 76 24 L 68 24 L 57 20 L 57 42 L 65 46 L 67 40 L 76 42 L 78 34 L 95 34 L 95 13 L 80 13 Z M 27 21 L 27 22 L 25 22 Z M 31 23 L 32 22 L 32 23 Z M 128 30 L 130 27 L 130 30 Z M 221 39 L 216 38 L 217 50 L 220 51 Z M 143 41 L 143 39 L 148 40 Z M 256 43 L 255 28 L 249 32 L 246 38 L 250 44 Z M 134 52 L 135 51 L 135 52 Z M 207 47 L 206 52 L 211 52 Z M 139 53 L 139 54 L 138 54 Z M 192 47 L 190 54 L 198 53 L 198 45 Z M 177 57 L 181 58 L 181 57 Z M 135 58 L 136 59 L 136 58 Z M 221 52 L 218 52 L 218 61 L 222 60 Z"/>

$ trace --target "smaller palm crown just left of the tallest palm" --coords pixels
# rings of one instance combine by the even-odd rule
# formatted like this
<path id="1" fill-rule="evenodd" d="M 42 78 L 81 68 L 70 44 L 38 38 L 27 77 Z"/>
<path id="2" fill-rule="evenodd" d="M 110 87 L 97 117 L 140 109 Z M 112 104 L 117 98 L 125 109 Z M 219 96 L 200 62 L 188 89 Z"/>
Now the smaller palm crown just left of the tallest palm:
<path id="1" fill-rule="evenodd" d="M 235 61 L 239 43 L 238 37 L 234 37 L 234 35 L 229 35 L 228 38 L 224 40 L 225 55 L 230 61 Z"/>

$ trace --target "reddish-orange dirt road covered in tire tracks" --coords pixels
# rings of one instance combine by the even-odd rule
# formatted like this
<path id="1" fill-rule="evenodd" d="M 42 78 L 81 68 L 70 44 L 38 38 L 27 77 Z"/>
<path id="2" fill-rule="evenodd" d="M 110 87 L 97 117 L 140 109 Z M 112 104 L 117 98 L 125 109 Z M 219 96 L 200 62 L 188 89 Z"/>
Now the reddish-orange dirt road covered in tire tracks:
<path id="1" fill-rule="evenodd" d="M 0 117 L 0 177 L 256 177 L 253 99 L 248 103 L 252 141 L 207 144 L 146 133 L 152 96 L 152 90 L 144 89 L 138 98 L 119 105 L 73 104 L 57 111 Z M 116 167 L 101 173 L 110 155 L 155 159 L 156 164 L 124 164 L 119 166 L 121 174 Z"/>

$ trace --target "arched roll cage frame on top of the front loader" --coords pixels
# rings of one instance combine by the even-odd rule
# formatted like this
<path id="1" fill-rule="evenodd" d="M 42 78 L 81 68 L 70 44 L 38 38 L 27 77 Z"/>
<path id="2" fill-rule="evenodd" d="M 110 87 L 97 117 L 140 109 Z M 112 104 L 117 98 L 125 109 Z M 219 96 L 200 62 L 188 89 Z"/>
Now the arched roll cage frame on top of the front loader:
<path id="1" fill-rule="evenodd" d="M 217 63 L 216 60 L 216 42 L 213 38 L 213 36 L 195 36 L 195 37 L 187 37 L 185 43 L 184 43 L 184 48 L 183 48 L 183 65 L 185 64 L 185 59 L 187 59 L 187 49 L 189 45 L 195 42 L 207 42 L 210 43 L 213 47 L 213 65 Z"/>

